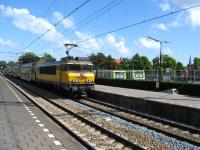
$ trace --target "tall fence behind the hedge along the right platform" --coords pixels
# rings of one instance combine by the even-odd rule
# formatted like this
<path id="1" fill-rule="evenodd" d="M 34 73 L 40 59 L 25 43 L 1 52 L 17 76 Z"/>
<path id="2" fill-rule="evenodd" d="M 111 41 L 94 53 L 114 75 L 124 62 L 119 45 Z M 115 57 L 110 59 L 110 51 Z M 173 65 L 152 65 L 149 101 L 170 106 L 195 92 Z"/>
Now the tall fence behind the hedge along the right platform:
<path id="1" fill-rule="evenodd" d="M 128 78 L 128 72 L 133 70 L 98 70 L 98 78 L 113 78 L 113 73 L 117 72 L 117 76 L 120 79 L 130 79 Z M 136 71 L 136 70 L 135 70 Z M 138 70 L 135 75 L 142 75 L 141 70 Z M 96 72 L 95 72 L 96 73 Z M 117 77 L 115 76 L 115 77 Z M 124 77 L 126 76 L 126 77 Z M 160 72 L 159 70 L 145 70 L 145 79 L 148 81 L 166 81 L 166 82 L 185 82 L 185 83 L 200 83 L 200 70 L 164 70 Z"/>

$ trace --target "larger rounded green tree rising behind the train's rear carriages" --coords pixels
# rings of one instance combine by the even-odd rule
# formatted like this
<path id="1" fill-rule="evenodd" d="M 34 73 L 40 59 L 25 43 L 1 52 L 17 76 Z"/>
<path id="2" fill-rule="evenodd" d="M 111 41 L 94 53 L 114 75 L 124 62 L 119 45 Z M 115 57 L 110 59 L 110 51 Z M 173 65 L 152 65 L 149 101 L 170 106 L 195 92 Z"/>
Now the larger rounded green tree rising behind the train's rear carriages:
<path id="1" fill-rule="evenodd" d="M 31 52 L 27 52 L 18 58 L 19 64 L 25 64 L 25 63 L 30 63 L 30 62 L 36 62 L 40 58 L 35 54 Z"/>

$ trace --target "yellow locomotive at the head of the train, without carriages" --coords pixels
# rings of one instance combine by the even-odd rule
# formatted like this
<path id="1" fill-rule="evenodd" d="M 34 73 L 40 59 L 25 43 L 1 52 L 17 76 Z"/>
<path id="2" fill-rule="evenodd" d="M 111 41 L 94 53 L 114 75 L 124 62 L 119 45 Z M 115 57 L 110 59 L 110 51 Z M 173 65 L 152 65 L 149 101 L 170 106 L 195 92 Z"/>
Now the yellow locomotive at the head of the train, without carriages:
<path id="1" fill-rule="evenodd" d="M 69 97 L 87 96 L 94 90 L 92 70 L 92 63 L 81 58 L 37 64 L 35 81 L 64 89 Z"/>

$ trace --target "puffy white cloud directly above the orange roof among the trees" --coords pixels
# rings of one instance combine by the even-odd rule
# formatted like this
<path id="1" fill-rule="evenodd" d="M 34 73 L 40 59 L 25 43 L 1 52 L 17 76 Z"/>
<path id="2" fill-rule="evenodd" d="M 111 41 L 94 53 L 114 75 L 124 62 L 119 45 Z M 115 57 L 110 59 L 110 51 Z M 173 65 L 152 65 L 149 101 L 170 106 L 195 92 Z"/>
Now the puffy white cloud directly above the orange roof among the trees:
<path id="1" fill-rule="evenodd" d="M 117 39 L 116 37 L 114 37 L 112 34 L 109 34 L 106 37 L 106 43 L 115 48 L 117 50 L 117 52 L 119 52 L 120 54 L 128 54 L 129 53 L 129 49 L 125 46 L 125 40 L 123 38 Z"/>

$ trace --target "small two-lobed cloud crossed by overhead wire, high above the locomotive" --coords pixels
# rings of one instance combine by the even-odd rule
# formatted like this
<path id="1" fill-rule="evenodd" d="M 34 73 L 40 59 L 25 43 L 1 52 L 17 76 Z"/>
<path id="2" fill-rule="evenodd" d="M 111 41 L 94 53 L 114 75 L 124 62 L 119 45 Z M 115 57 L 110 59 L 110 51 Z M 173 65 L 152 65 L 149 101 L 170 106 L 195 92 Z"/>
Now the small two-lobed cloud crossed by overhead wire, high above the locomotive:
<path id="1" fill-rule="evenodd" d="M 57 22 L 57 21 L 60 21 L 61 19 L 63 19 L 63 17 L 64 17 L 64 16 L 63 16 L 60 12 L 55 11 L 55 12 L 53 13 L 53 18 L 54 18 L 54 20 L 55 20 L 56 22 Z M 67 29 L 72 28 L 72 27 L 74 26 L 74 22 L 73 22 L 72 17 L 68 17 L 68 18 L 64 19 L 64 20 L 61 22 L 61 24 L 62 24 L 65 28 L 67 28 Z"/>

